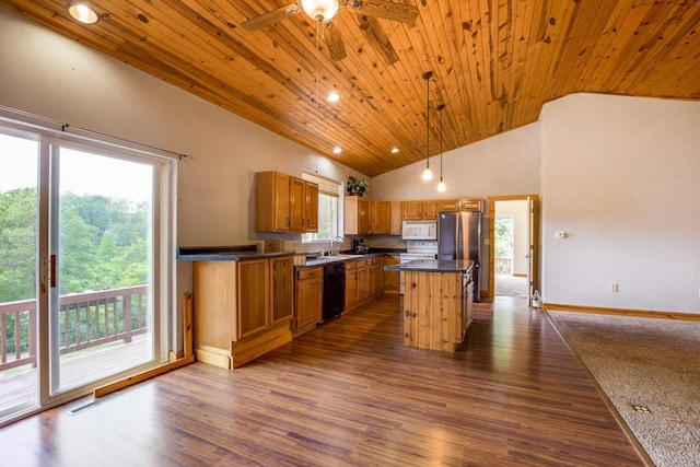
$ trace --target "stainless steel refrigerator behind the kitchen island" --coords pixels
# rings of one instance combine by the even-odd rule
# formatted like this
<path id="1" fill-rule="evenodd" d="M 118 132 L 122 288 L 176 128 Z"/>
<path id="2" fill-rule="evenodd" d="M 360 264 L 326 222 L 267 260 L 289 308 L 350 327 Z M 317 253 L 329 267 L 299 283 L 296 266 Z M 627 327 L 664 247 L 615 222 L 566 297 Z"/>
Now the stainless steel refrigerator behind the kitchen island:
<path id="1" fill-rule="evenodd" d="M 438 213 L 438 259 L 474 261 L 474 301 L 481 301 L 481 212 Z"/>

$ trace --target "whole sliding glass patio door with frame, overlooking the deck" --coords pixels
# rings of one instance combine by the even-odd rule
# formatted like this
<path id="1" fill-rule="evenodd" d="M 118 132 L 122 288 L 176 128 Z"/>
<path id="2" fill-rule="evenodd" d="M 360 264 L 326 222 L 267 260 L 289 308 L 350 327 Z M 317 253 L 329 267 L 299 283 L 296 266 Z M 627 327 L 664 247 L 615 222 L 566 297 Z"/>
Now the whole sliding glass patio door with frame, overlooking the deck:
<path id="1" fill-rule="evenodd" d="M 0 422 L 160 363 L 170 164 L 0 127 Z"/>

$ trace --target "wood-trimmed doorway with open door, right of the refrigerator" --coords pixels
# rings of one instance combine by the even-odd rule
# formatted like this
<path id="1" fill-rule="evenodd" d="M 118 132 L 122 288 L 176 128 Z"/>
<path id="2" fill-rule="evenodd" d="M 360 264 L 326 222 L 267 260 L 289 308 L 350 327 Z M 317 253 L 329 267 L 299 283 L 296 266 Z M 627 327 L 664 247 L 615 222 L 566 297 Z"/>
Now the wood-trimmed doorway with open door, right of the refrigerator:
<path id="1" fill-rule="evenodd" d="M 529 302 L 537 288 L 537 196 L 492 197 L 489 206 L 489 292 Z"/>

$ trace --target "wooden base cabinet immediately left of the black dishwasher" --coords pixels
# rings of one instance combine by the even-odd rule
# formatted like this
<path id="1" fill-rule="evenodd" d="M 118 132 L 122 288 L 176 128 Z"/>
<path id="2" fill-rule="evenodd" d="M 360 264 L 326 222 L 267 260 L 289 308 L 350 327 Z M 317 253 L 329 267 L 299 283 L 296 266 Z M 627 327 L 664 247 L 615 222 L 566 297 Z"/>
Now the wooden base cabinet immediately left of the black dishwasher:
<path id="1" fill-rule="evenodd" d="M 294 336 L 316 327 L 324 304 L 324 268 L 300 269 L 295 287 L 296 324 Z"/>

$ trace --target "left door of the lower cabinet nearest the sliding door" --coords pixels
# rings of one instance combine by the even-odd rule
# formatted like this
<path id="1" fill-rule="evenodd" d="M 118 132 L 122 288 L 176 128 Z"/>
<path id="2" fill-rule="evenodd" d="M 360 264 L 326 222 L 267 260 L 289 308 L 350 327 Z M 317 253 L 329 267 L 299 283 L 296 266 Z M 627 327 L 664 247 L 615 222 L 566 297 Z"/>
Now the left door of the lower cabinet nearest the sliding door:
<path id="1" fill-rule="evenodd" d="M 237 338 L 250 336 L 270 326 L 270 262 L 267 259 L 238 264 L 238 331 Z"/>

